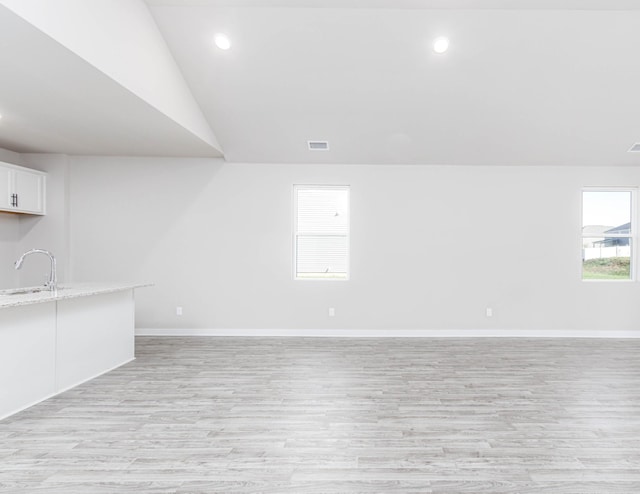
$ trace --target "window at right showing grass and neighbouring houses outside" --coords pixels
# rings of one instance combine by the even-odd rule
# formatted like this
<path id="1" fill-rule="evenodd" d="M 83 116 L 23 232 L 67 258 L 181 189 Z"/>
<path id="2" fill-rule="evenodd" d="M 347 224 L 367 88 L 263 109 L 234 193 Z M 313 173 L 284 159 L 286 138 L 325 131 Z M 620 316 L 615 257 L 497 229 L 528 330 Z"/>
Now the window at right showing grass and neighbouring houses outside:
<path id="1" fill-rule="evenodd" d="M 582 279 L 631 280 L 635 258 L 635 191 L 582 191 Z"/>

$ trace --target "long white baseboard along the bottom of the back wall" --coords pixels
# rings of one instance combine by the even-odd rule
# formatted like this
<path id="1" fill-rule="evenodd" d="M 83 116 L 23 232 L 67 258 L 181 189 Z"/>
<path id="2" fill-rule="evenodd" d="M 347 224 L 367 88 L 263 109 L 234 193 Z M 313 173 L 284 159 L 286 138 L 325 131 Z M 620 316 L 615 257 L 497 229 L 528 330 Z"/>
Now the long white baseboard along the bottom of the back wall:
<path id="1" fill-rule="evenodd" d="M 136 336 L 298 336 L 312 338 L 640 338 L 640 330 L 137 328 Z"/>

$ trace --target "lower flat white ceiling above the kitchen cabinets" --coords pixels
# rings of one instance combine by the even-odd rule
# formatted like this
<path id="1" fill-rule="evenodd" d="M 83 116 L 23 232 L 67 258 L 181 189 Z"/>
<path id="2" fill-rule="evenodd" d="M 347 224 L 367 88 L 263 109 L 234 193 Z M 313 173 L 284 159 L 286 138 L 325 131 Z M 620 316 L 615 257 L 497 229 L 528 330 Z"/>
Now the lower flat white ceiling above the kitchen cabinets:
<path id="1" fill-rule="evenodd" d="M 3 6 L 0 32 L 0 147 L 17 152 L 220 156 Z"/>

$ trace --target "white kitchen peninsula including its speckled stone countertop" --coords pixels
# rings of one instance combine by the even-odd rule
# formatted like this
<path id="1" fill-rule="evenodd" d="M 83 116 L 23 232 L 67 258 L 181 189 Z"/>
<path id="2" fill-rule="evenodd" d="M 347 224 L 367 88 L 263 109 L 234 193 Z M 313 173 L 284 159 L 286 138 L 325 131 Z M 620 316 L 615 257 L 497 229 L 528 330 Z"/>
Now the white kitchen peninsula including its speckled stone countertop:
<path id="1" fill-rule="evenodd" d="M 132 283 L 0 291 L 0 419 L 134 359 Z"/>

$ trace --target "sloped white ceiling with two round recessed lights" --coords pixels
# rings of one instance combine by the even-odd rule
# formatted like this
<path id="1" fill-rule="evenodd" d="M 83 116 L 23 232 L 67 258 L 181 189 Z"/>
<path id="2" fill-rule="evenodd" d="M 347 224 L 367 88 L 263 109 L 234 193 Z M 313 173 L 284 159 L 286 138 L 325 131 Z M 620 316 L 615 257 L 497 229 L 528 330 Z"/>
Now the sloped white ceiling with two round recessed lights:
<path id="1" fill-rule="evenodd" d="M 229 161 L 640 164 L 626 152 L 640 141 L 640 11 L 160 3 Z M 230 50 L 212 46 L 216 32 Z"/>

